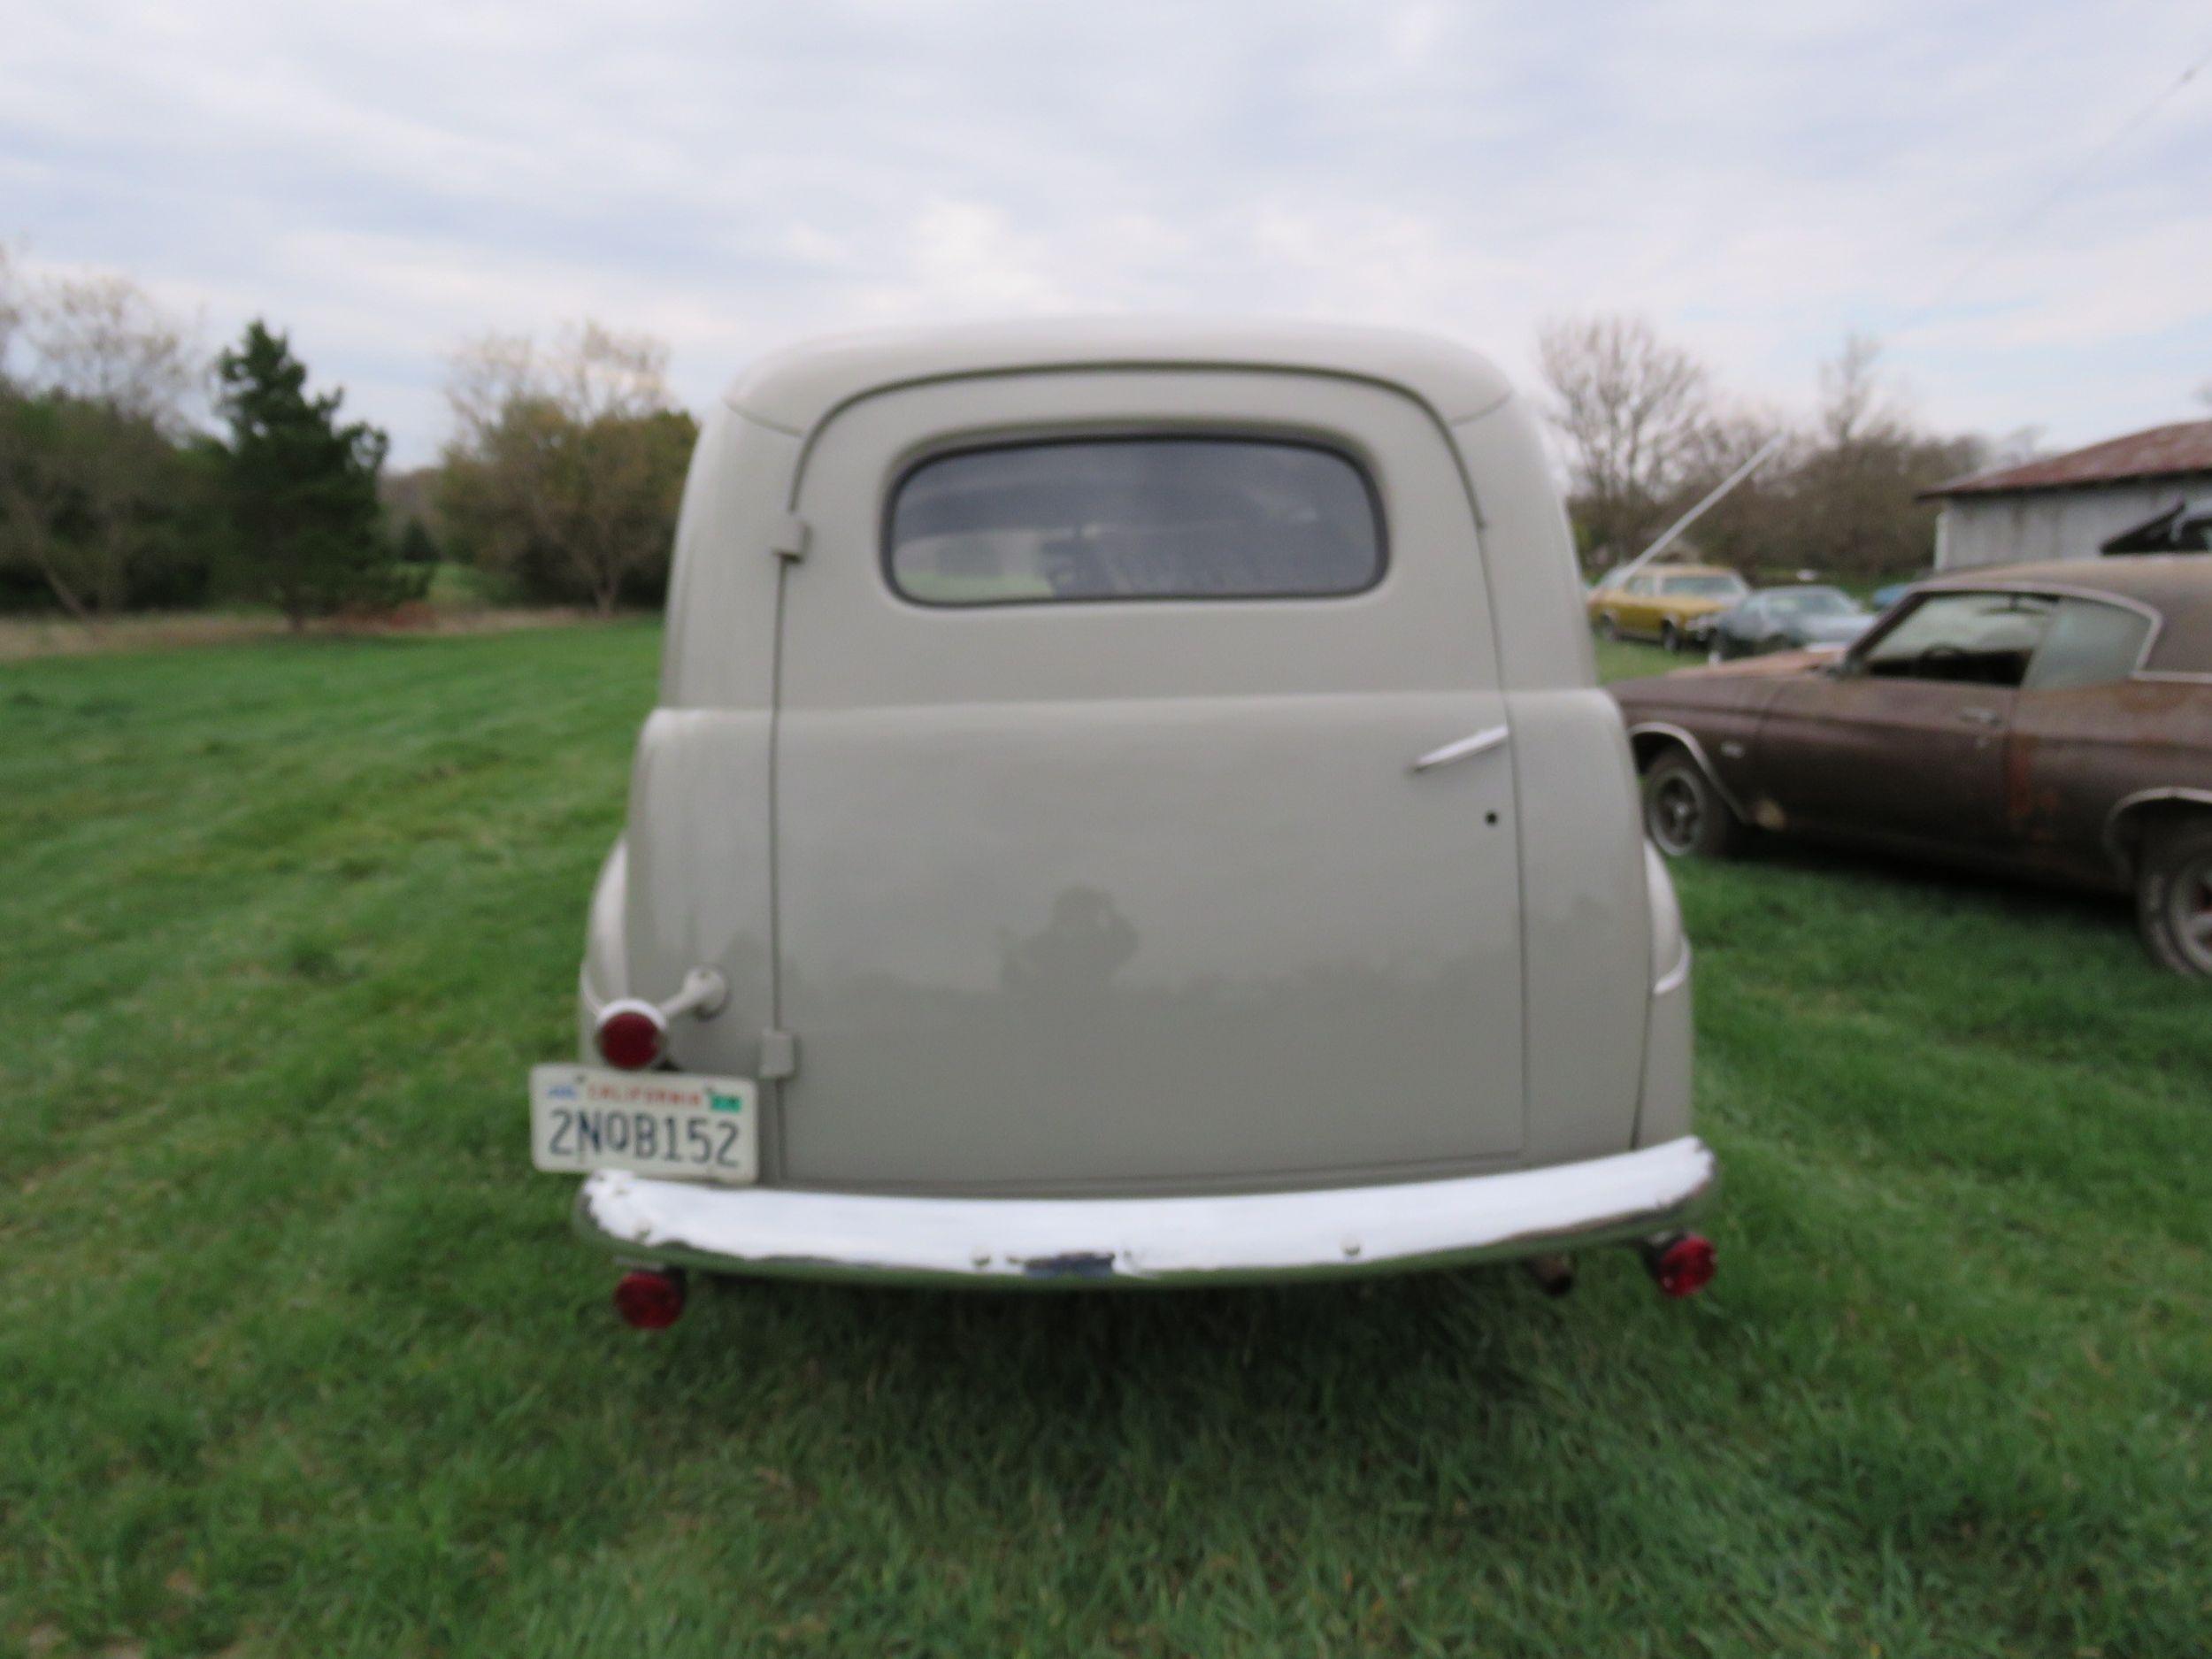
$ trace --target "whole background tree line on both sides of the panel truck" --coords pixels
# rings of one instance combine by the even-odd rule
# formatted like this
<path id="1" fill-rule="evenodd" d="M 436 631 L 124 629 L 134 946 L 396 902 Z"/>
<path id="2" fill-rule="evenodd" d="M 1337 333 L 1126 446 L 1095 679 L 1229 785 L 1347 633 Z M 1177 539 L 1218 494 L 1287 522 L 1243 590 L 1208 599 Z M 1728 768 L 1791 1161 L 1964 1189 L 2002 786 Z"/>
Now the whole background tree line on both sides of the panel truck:
<path id="1" fill-rule="evenodd" d="M 1635 316 L 1546 323 L 1537 361 L 1590 568 L 1639 553 L 1778 440 L 1699 520 L 1703 557 L 1911 571 L 1933 535 L 1918 493 L 1997 458 L 1922 429 L 1856 334 L 1796 425 L 1725 398 Z M 449 361 L 451 436 L 414 473 L 387 476 L 385 434 L 343 405 L 259 319 L 206 358 L 131 281 L 31 281 L 0 250 L 0 608 L 97 622 L 250 599 L 305 624 L 416 599 L 438 562 L 599 615 L 661 597 L 697 425 L 659 341 L 586 321 L 544 343 L 467 343 Z"/>

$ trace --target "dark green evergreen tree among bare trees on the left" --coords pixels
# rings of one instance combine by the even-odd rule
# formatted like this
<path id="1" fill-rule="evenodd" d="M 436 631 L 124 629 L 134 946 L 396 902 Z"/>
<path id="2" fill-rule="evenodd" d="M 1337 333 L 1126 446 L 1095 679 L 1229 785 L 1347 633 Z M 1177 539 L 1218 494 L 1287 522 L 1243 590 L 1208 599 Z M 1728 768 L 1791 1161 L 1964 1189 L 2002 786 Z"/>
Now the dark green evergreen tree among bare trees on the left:
<path id="1" fill-rule="evenodd" d="M 307 367 L 261 321 L 217 361 L 230 420 L 228 495 L 248 588 L 294 628 L 336 611 L 383 611 L 418 597 L 398 571 L 376 502 L 385 434 L 338 425 L 343 392 L 310 398 Z"/>

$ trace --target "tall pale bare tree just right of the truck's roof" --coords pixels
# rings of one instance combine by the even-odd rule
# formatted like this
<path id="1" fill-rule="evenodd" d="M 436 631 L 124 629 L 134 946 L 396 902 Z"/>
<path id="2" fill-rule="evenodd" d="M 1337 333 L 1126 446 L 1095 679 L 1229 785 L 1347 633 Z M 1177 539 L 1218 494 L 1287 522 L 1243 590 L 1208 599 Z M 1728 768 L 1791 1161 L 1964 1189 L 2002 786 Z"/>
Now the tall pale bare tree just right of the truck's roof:
<path id="1" fill-rule="evenodd" d="M 1537 358 L 1590 551 L 1637 553 L 1663 529 L 1668 502 L 1701 458 L 1710 420 L 1703 365 L 1639 316 L 1551 321 L 1537 334 Z"/>

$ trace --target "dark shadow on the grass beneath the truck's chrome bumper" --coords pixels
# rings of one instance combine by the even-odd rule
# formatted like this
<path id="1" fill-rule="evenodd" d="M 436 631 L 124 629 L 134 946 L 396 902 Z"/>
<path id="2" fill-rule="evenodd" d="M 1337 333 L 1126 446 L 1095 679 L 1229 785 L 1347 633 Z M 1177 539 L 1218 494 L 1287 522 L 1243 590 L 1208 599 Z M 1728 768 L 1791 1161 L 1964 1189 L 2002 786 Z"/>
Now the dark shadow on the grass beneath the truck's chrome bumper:
<path id="1" fill-rule="evenodd" d="M 1648 1294 L 1626 1256 L 1615 1267 Z M 1617 1318 L 1617 1294 L 1555 1307 L 1511 1265 L 1217 1292 L 695 1290 L 692 1340 L 655 1367 L 672 1409 L 657 1433 L 712 1440 L 763 1405 L 810 1411 L 894 1504 L 916 1478 L 1002 1504 L 1009 1460 L 1018 1489 L 1110 1482 L 1124 1502 L 1197 1469 L 1276 1484 L 1358 1471 L 1376 1495 L 1425 1500 L 1440 1436 L 1460 1462 L 1526 1440 L 1515 1422 L 1548 1436 L 1553 1413 L 1617 1418 L 1630 1398 L 1668 1411 L 1666 1374 L 1692 1340 L 1655 1345 L 1661 1327 Z"/>

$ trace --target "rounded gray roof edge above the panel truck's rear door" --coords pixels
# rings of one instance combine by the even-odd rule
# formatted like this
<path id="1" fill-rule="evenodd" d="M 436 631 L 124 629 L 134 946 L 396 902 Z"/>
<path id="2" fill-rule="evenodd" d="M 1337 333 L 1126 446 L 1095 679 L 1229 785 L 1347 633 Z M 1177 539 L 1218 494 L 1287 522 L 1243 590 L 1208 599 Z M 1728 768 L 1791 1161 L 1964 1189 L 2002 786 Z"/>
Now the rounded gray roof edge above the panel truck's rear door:
<path id="1" fill-rule="evenodd" d="M 1447 425 L 1511 396 L 1511 383 L 1489 358 L 1436 334 L 1119 316 L 836 334 L 757 361 L 723 396 L 754 420 L 807 434 L 838 405 L 896 385 L 962 374 L 1130 367 L 1303 369 L 1378 380 L 1429 405 Z"/>

